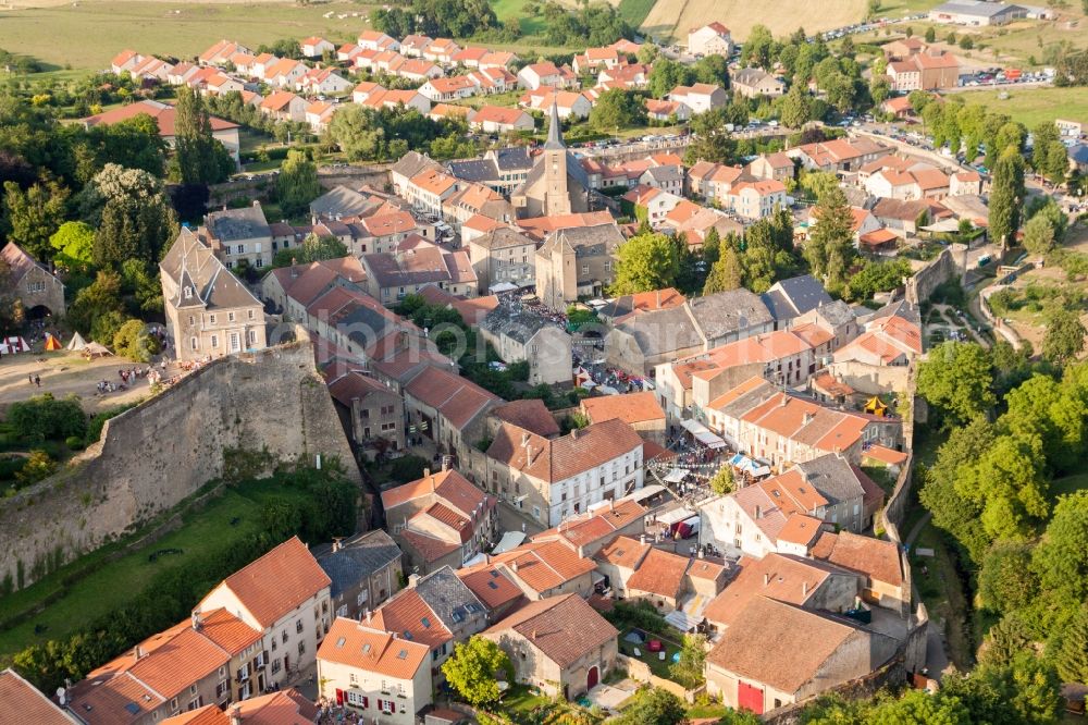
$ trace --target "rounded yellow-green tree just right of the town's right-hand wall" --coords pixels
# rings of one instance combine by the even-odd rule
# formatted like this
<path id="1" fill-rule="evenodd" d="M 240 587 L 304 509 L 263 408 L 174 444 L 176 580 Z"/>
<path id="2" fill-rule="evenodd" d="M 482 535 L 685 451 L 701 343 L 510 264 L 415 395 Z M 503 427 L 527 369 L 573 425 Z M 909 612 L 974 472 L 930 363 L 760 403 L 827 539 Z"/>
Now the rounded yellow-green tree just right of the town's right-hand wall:
<path id="1" fill-rule="evenodd" d="M 945 425 L 963 425 L 993 407 L 990 356 L 975 343 L 947 342 L 918 367 L 918 394 L 939 408 Z"/>

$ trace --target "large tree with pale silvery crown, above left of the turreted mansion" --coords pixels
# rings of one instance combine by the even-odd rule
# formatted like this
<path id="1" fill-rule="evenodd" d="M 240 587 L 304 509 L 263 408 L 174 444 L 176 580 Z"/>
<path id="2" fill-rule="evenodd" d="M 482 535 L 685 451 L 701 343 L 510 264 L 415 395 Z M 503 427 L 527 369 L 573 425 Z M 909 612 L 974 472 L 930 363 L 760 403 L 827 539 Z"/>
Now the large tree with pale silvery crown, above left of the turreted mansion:
<path id="1" fill-rule="evenodd" d="M 108 163 L 95 176 L 90 197 L 91 207 L 101 204 L 96 267 L 120 267 L 127 259 L 157 263 L 177 235 L 177 219 L 162 183 L 146 171 Z"/>

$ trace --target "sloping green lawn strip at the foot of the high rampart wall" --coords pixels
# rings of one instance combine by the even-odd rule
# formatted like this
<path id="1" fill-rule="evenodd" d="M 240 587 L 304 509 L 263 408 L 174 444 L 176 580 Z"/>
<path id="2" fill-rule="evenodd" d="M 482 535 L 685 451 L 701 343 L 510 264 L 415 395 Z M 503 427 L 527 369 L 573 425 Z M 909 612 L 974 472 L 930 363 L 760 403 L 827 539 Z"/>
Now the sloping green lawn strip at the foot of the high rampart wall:
<path id="1" fill-rule="evenodd" d="M 55 595 L 62 589 L 61 581 L 73 570 L 88 563 L 102 562 L 100 566 L 91 567 L 88 576 L 73 583 L 66 593 L 48 604 L 40 614 L 0 631 L 0 655 L 47 639 L 59 639 L 136 599 L 162 572 L 208 557 L 258 531 L 261 527 L 261 505 L 267 496 L 293 495 L 282 489 L 265 482 L 227 489 L 202 508 L 186 513 L 181 528 L 139 551 L 107 563 L 108 555 L 119 548 L 119 544 L 111 544 L 27 589 L 0 599 L 2 620 Z M 163 550 L 180 550 L 180 553 L 163 554 L 154 562 L 149 561 L 150 554 Z M 207 583 L 210 588 L 215 582 Z"/>

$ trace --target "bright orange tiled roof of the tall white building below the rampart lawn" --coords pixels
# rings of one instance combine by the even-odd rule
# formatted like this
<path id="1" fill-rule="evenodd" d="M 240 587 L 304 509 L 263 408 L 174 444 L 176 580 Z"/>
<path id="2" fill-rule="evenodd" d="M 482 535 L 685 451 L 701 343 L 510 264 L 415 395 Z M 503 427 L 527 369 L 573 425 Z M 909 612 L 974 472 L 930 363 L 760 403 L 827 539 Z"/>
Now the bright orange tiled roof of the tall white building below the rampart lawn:
<path id="1" fill-rule="evenodd" d="M 220 586 L 234 592 L 254 618 L 268 628 L 331 583 L 301 539 L 292 537 Z"/>

